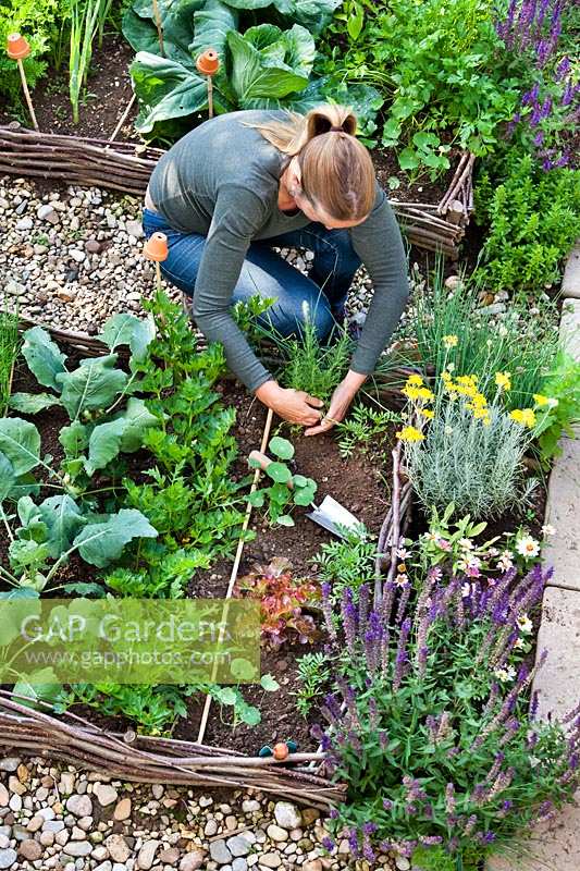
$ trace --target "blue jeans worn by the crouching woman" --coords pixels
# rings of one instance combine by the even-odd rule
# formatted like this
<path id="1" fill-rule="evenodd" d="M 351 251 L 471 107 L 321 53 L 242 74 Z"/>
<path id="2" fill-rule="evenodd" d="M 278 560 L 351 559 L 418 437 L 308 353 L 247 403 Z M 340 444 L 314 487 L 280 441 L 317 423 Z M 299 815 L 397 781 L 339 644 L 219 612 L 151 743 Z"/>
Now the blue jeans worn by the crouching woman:
<path id="1" fill-rule="evenodd" d="M 161 214 L 149 209 L 144 209 L 143 228 L 147 238 L 151 233 L 165 233 L 169 257 L 161 263 L 161 271 L 168 281 L 193 296 L 206 237 L 200 233 L 173 230 Z M 291 266 L 272 250 L 272 246 L 313 252 L 310 275 L 306 277 Z M 318 338 L 323 340 L 334 323 L 344 318 L 348 289 L 360 262 L 348 230 L 326 230 L 319 223 L 252 242 L 234 289 L 232 305 L 256 295 L 274 298 L 274 304 L 260 320 L 263 326 L 288 336 L 299 333 L 305 321 L 304 304 L 307 303 L 306 311 L 309 311 Z"/>

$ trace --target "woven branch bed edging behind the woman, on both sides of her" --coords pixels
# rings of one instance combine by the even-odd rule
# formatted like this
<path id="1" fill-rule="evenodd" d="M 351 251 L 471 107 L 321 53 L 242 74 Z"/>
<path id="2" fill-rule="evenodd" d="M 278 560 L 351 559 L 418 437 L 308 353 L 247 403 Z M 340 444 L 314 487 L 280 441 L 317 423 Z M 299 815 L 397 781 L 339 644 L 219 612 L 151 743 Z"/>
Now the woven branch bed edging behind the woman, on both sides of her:
<path id="1" fill-rule="evenodd" d="M 54 179 L 144 196 L 160 148 L 38 133 L 17 122 L 0 126 L 0 175 Z M 473 208 L 474 156 L 464 152 L 437 205 L 391 204 L 409 242 L 456 259 Z"/>

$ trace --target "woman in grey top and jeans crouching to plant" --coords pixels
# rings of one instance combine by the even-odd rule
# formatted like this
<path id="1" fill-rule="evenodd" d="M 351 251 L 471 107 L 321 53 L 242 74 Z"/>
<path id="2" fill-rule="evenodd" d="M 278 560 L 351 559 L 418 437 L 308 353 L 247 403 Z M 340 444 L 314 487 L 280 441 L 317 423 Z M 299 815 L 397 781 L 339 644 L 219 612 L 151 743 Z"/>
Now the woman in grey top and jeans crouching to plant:
<path id="1" fill-rule="evenodd" d="M 145 200 L 145 234 L 166 234 L 163 273 L 193 296 L 199 329 L 223 344 L 230 368 L 249 391 L 280 417 L 307 427 L 307 436 L 343 420 L 408 294 L 398 225 L 355 130 L 355 115 L 340 106 L 322 106 L 306 116 L 220 115 L 163 155 Z M 312 250 L 310 275 L 272 246 Z M 231 306 L 256 294 L 273 297 L 267 322 L 283 335 L 296 334 L 310 312 L 322 339 L 343 317 L 361 262 L 373 298 L 349 371 L 322 416 L 316 396 L 276 383 L 233 320 Z"/>

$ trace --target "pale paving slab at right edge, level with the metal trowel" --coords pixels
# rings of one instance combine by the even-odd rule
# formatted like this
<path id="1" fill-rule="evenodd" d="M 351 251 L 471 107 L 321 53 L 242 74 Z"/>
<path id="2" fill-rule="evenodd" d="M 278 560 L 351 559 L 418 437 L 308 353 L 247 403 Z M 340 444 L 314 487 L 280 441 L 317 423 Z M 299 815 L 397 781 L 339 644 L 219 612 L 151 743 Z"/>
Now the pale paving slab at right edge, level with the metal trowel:
<path id="1" fill-rule="evenodd" d="M 559 445 L 546 503 L 546 524 L 556 532 L 544 547 L 544 561 L 554 566 L 550 586 L 580 591 L 580 439 L 560 439 Z M 580 686 L 580 660 L 577 674 Z"/>

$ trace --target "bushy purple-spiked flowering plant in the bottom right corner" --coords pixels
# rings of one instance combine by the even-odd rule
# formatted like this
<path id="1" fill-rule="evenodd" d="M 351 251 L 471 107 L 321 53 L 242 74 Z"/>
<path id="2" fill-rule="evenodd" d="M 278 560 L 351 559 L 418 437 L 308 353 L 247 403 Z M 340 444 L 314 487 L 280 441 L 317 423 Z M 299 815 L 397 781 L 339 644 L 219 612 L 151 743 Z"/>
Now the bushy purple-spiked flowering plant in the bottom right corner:
<path id="1" fill-rule="evenodd" d="M 511 568 L 466 596 L 464 578 L 436 567 L 412 616 L 408 584 L 387 584 L 374 609 L 368 587 L 358 604 L 346 589 L 341 633 L 324 586 L 335 691 L 314 736 L 328 773 L 348 784 L 334 834 L 346 830 L 355 856 L 476 868 L 571 800 L 580 706 L 562 724 L 536 720 L 530 686 L 546 654 L 530 668 L 519 650 L 550 574 L 536 565 L 518 579 Z"/>

